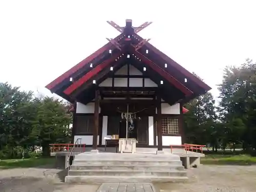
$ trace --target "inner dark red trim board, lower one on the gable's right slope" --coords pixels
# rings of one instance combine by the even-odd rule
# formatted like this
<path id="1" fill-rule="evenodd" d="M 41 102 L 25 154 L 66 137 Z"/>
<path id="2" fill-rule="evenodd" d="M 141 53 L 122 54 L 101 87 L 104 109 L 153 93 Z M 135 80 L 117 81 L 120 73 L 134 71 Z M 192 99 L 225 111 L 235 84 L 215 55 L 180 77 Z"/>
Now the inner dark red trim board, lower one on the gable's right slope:
<path id="1" fill-rule="evenodd" d="M 141 59 L 141 61 L 147 63 L 148 66 L 150 66 L 153 70 L 155 70 L 158 74 L 160 74 L 163 78 L 165 78 L 167 81 L 169 81 L 171 84 L 173 84 L 176 88 L 178 88 L 180 91 L 182 91 L 186 96 L 193 94 L 192 91 L 187 89 L 182 83 L 180 83 L 176 78 L 174 78 L 172 75 L 168 74 L 166 71 L 164 71 L 162 68 L 160 68 L 156 63 L 145 57 L 143 54 L 141 54 L 138 51 L 134 50 L 134 54 Z"/>

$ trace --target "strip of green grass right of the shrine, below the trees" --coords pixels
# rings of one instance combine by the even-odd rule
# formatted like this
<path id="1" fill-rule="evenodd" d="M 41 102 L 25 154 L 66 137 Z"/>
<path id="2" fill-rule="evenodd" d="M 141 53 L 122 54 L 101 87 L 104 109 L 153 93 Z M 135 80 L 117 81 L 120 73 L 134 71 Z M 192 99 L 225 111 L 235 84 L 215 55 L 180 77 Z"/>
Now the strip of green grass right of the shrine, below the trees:
<path id="1" fill-rule="evenodd" d="M 219 165 L 252 165 L 256 164 L 256 157 L 250 155 L 205 155 L 201 158 L 202 164 L 219 164 Z"/>

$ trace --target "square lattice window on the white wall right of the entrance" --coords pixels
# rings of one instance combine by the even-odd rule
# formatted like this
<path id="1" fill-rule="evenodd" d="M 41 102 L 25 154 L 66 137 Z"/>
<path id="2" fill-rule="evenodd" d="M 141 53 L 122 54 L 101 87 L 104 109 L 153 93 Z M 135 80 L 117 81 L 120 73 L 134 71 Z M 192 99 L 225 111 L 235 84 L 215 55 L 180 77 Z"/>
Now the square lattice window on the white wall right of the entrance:
<path id="1" fill-rule="evenodd" d="M 154 124 L 157 129 L 157 122 Z M 162 133 L 163 134 L 179 134 L 179 125 L 177 118 L 164 118 L 162 119 Z"/>

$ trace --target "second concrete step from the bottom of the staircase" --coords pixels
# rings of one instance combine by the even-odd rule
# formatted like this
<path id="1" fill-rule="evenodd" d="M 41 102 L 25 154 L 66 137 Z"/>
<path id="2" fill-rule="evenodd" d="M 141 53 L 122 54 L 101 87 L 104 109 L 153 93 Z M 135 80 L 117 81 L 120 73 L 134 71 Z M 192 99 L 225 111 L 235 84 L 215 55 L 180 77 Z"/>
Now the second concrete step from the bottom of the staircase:
<path id="1" fill-rule="evenodd" d="M 71 170 L 159 170 L 159 171 L 170 171 L 170 170 L 184 170 L 182 165 L 71 165 Z"/>

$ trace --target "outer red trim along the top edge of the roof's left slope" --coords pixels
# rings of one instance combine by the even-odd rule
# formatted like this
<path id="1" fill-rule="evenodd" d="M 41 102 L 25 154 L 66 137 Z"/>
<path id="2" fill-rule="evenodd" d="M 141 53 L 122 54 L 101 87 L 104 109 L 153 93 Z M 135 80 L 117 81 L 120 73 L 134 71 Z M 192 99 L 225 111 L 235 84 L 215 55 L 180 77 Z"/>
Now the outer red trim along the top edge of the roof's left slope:
<path id="1" fill-rule="evenodd" d="M 123 36 L 123 34 L 118 35 L 115 40 L 119 39 L 121 36 Z M 55 86 L 57 86 L 57 84 L 61 83 L 63 80 L 65 80 L 66 78 L 69 78 L 72 76 L 73 73 L 75 73 L 76 71 L 78 71 L 79 69 L 81 69 L 83 66 L 85 66 L 87 63 L 90 63 L 91 60 L 93 60 L 94 58 L 98 57 L 100 54 L 102 54 L 104 51 L 110 49 L 113 45 L 111 44 L 111 42 L 108 42 L 108 44 L 104 45 L 103 47 L 101 47 L 100 49 L 98 49 L 97 51 L 95 51 L 93 54 L 91 54 L 90 56 L 88 56 L 87 58 L 83 59 L 81 62 L 79 62 L 77 65 L 75 65 L 74 67 L 72 67 L 70 70 L 68 70 L 67 72 L 63 73 L 62 75 L 60 75 L 58 78 L 56 78 L 55 80 L 53 80 L 52 82 L 50 82 L 46 88 L 51 90 L 53 89 Z"/>

